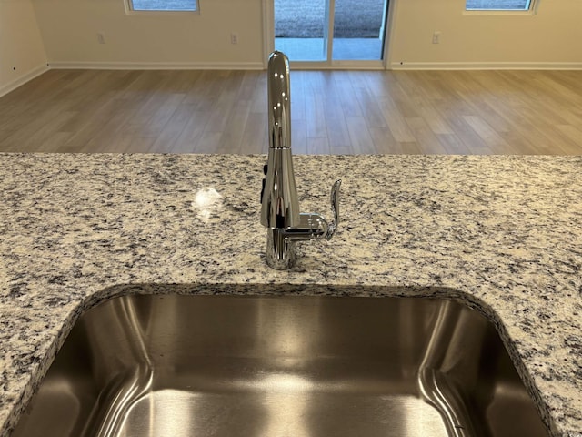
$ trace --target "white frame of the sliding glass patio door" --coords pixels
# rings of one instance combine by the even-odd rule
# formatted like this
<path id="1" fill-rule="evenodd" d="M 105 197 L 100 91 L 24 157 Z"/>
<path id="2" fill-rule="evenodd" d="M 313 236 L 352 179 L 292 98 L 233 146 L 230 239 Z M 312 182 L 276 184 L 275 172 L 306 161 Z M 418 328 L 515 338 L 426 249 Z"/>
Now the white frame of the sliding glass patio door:
<path id="1" fill-rule="evenodd" d="M 352 69 L 352 70 L 383 70 L 390 66 L 390 52 L 392 41 L 394 39 L 394 23 L 396 16 L 396 4 L 398 0 L 386 0 L 387 2 L 387 17 L 384 28 L 384 53 L 382 60 L 377 61 L 347 61 L 347 60 L 333 60 L 331 56 L 332 45 L 327 44 L 327 60 L 326 61 L 291 61 L 290 64 L 298 69 Z M 263 66 L 266 68 L 267 56 L 275 50 L 275 0 L 262 0 L 263 4 Z M 332 3 L 331 7 L 334 7 Z M 328 20 L 331 22 L 333 14 L 328 14 Z M 331 30 L 330 35 L 333 38 L 333 22 L 329 23 Z M 387 43 L 387 44 L 386 44 Z"/>

